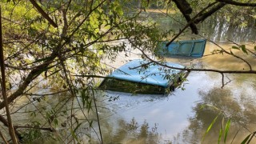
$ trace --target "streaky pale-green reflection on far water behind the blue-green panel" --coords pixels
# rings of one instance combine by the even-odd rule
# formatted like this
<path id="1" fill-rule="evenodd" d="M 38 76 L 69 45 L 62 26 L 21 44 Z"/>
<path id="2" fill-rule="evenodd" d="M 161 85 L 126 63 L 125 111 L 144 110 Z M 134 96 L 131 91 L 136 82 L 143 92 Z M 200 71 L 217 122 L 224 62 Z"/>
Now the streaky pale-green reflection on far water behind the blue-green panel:
<path id="1" fill-rule="evenodd" d="M 179 30 L 182 30 L 186 26 L 186 21 L 178 17 L 177 14 L 152 14 L 152 17 L 161 30 L 174 30 L 178 34 Z M 255 42 L 256 26 L 254 18 L 247 18 L 248 26 L 241 25 L 242 22 L 233 22 L 228 20 L 226 16 L 221 14 L 215 14 L 206 18 L 202 23 L 199 23 L 198 30 L 199 35 L 191 34 L 191 30 L 186 30 L 185 34 L 182 34 L 182 38 L 204 38 L 210 39 L 214 42 L 227 42 L 227 39 L 234 42 Z M 202 36 L 200 36 L 202 35 Z M 180 38 L 180 39 L 182 39 Z"/>

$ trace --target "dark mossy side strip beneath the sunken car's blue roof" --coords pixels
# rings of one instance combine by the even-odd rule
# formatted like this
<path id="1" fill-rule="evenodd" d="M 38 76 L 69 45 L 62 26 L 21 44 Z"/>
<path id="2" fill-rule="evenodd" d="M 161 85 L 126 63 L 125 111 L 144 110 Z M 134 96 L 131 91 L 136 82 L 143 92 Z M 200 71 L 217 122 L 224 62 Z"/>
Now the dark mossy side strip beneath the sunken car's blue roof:
<path id="1" fill-rule="evenodd" d="M 128 82 L 115 78 L 106 78 L 101 86 L 102 90 L 120 91 L 132 94 L 165 94 L 166 89 L 162 86 L 154 86 L 150 84 Z"/>

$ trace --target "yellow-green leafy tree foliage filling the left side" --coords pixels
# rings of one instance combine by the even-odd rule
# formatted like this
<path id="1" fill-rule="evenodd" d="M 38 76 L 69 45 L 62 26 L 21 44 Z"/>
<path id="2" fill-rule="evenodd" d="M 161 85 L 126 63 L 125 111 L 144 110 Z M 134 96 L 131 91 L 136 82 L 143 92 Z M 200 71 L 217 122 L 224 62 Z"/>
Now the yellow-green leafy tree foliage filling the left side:
<path id="1" fill-rule="evenodd" d="M 106 58 L 114 60 L 119 52 L 127 51 L 128 42 L 131 50 L 151 50 L 162 38 L 154 22 L 138 21 L 142 10 L 127 7 L 130 1 L 40 1 L 57 28 L 29 0 L 0 4 L 10 102 L 26 95 L 20 109 L 30 106 L 25 112 L 41 124 L 37 130 L 24 132 L 23 138 L 30 142 L 40 138 L 42 131 L 51 130 L 44 129 L 47 127 L 56 129 L 61 141 L 82 142 L 78 134 L 85 124 L 93 126 L 94 122 L 87 118 L 96 106 L 91 97 L 97 83 L 93 75 L 109 72 Z M 38 95 L 44 98 L 34 97 Z"/>

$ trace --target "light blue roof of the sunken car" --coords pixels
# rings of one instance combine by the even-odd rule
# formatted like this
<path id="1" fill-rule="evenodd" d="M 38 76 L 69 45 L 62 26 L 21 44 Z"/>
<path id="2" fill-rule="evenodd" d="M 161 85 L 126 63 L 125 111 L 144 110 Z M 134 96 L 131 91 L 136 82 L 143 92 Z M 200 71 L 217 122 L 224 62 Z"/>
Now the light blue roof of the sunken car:
<path id="1" fill-rule="evenodd" d="M 179 72 L 181 72 L 181 70 L 174 70 L 166 68 L 164 66 L 159 66 L 154 64 L 153 62 L 151 62 L 150 64 L 148 63 L 149 62 L 142 59 L 132 60 L 130 62 L 127 62 L 125 65 L 119 67 L 117 70 L 114 70 L 112 74 L 110 74 L 108 77 L 129 82 L 139 82 L 167 88 L 168 86 L 170 86 L 170 83 L 172 83 L 172 81 L 168 78 L 165 78 L 166 73 L 164 72 L 164 70 L 170 70 L 170 74 L 178 74 Z M 147 68 L 144 70 L 142 70 L 143 64 L 147 66 Z M 185 67 L 173 62 L 166 62 L 165 64 L 167 66 L 173 66 L 177 68 Z"/>

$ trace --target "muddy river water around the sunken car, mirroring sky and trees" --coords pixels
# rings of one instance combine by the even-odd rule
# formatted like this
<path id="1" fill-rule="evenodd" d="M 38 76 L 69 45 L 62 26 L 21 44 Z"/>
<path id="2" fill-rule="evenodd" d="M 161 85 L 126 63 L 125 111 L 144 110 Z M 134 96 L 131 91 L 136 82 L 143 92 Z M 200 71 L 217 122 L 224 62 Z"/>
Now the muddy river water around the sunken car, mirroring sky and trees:
<path id="1" fill-rule="evenodd" d="M 162 18 L 160 26 L 176 26 Z M 167 62 L 178 62 L 185 66 L 217 70 L 249 70 L 249 66 L 238 58 L 227 54 L 214 54 L 218 46 L 230 51 L 234 41 L 246 44 L 253 50 L 255 27 L 230 27 L 228 23 L 216 20 L 213 29 L 202 24 L 202 34 L 207 38 L 203 58 L 166 58 Z M 184 37 L 183 37 L 184 38 Z M 186 38 L 202 38 L 187 33 Z M 182 39 L 182 38 L 181 38 Z M 214 43 L 210 42 L 213 41 Z M 243 54 L 233 50 L 234 54 L 245 58 L 253 69 L 256 67 L 254 54 Z M 255 52 L 255 51 L 254 51 Z M 110 65 L 122 66 L 130 59 L 139 58 L 133 52 L 127 58 L 120 54 L 116 62 Z M 222 75 L 212 72 L 193 71 L 184 83 L 185 90 L 177 89 L 168 96 L 131 95 L 107 92 L 118 97 L 114 102 L 107 102 L 102 118 L 103 139 L 106 143 L 218 143 L 219 131 L 231 118 L 227 143 L 241 143 L 248 134 L 255 130 L 256 122 L 256 75 L 225 74 L 222 88 Z M 207 106 L 206 106 L 207 105 Z M 206 133 L 208 126 L 218 116 L 213 128 Z M 101 113 L 100 113 L 101 114 Z M 110 127 L 112 128 L 110 130 Z M 221 142 L 224 139 L 222 134 Z M 252 143 L 256 142 L 253 138 Z"/>

